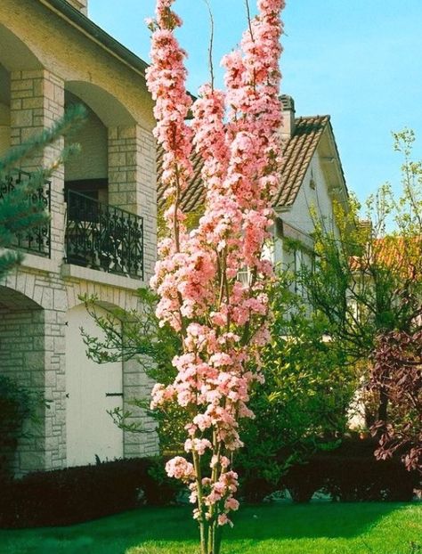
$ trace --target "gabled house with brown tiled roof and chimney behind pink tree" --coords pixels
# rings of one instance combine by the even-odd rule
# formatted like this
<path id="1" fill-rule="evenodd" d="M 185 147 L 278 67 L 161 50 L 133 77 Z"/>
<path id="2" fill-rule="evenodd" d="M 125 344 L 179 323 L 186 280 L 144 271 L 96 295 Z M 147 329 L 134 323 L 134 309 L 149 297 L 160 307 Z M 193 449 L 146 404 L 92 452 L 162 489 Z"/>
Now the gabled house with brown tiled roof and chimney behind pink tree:
<path id="1" fill-rule="evenodd" d="M 295 118 L 293 99 L 282 95 L 281 102 L 284 116 L 280 129 L 283 159 L 280 187 L 273 200 L 276 220 L 268 255 L 275 265 L 296 272 L 302 264 L 312 263 L 315 217 L 336 232 L 333 203 L 336 200 L 347 208 L 348 192 L 330 117 Z M 160 153 L 158 162 L 159 156 Z M 194 155 L 192 163 L 195 176 L 183 191 L 181 207 L 185 212 L 200 213 L 204 191 L 199 157 Z M 158 163 L 158 208 L 163 208 L 164 204 Z M 292 243 L 295 248 L 292 248 Z"/>

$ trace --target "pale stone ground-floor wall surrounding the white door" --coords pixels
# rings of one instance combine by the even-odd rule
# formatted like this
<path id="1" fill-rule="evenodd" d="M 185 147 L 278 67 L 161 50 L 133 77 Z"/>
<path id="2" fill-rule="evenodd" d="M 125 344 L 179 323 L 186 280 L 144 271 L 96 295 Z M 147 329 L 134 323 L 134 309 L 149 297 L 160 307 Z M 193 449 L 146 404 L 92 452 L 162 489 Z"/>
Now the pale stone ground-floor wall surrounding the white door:
<path id="1" fill-rule="evenodd" d="M 31 258 L 34 257 L 25 262 L 27 265 Z M 101 278 L 101 273 L 98 277 Z M 49 409 L 40 413 L 41 425 L 31 429 L 29 438 L 20 441 L 16 475 L 36 469 L 66 467 L 66 314 L 81 303 L 79 297 L 85 294 L 95 295 L 107 306 L 136 309 L 139 299 L 134 289 L 141 283 L 125 277 L 120 280 L 122 284 L 126 281 L 130 288 L 76 277 L 61 278 L 53 272 L 22 267 L 0 283 L 0 372 L 17 379 L 25 387 L 44 390 L 45 398 L 50 401 Z M 13 304 L 11 295 L 17 295 L 20 303 Z M 149 431 L 125 433 L 127 457 L 158 452 L 155 422 L 145 411 L 134 409 L 128 403 L 133 398 L 147 397 L 152 384 L 138 363 L 123 364 L 124 408 L 133 411 L 133 420 Z"/>

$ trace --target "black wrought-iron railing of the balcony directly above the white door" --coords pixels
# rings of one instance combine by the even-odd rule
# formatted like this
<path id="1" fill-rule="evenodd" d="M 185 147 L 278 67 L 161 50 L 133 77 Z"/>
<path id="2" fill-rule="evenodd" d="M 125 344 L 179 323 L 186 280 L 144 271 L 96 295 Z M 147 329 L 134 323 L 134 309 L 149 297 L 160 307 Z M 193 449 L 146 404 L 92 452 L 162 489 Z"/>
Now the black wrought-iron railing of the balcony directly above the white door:
<path id="1" fill-rule="evenodd" d="M 66 194 L 66 262 L 143 279 L 142 217 L 79 192 Z"/>

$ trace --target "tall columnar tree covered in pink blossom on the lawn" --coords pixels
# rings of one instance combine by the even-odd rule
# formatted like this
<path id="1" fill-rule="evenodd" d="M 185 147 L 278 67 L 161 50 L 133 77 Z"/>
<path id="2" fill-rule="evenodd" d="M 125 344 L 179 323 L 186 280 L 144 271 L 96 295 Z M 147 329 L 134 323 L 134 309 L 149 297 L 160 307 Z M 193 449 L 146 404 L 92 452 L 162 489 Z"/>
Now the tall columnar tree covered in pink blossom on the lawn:
<path id="1" fill-rule="evenodd" d="M 150 21 L 147 80 L 156 102 L 155 135 L 165 151 L 168 203 L 168 233 L 158 247 L 152 284 L 160 297 L 158 318 L 181 334 L 183 352 L 173 361 L 174 383 L 153 388 L 152 407 L 178 403 L 190 415 L 187 458 L 170 460 L 166 472 L 191 489 L 201 554 L 218 554 L 222 527 L 231 525 L 228 514 L 239 507 L 231 468 L 233 452 L 242 446 L 239 419 L 253 417 L 248 390 L 262 380 L 259 353 L 269 338 L 265 286 L 272 264 L 262 251 L 280 167 L 284 0 L 258 0 L 258 15 L 239 49 L 223 58 L 226 92 L 203 86 L 193 104 L 185 88 L 186 53 L 174 37 L 182 21 L 173 3 L 157 0 Z M 180 202 L 192 177 L 192 148 L 203 159 L 206 202 L 198 228 L 188 232 Z"/>

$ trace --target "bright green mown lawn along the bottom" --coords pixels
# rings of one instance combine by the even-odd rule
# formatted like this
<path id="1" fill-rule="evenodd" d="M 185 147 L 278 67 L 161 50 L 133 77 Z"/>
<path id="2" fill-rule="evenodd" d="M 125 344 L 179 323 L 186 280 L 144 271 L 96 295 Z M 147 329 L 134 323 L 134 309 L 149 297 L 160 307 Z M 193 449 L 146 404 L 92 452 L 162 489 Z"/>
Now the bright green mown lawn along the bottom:
<path id="1" fill-rule="evenodd" d="M 189 514 L 144 508 L 72 527 L 0 531 L 0 553 L 197 554 Z M 248 506 L 235 524 L 223 554 L 422 554 L 420 504 Z"/>

